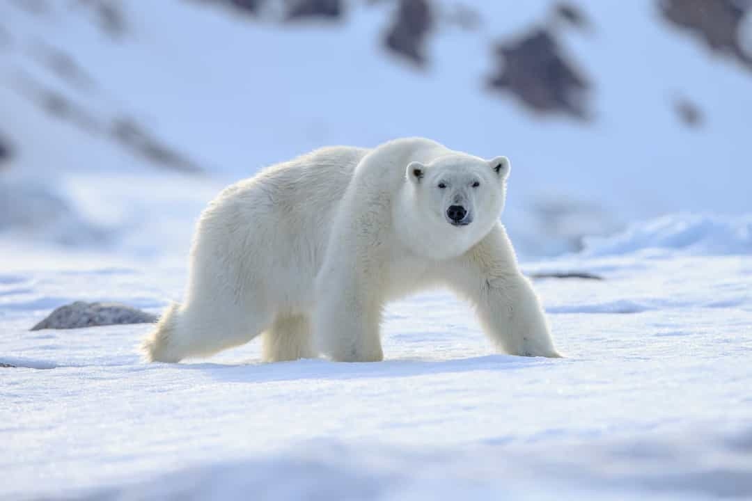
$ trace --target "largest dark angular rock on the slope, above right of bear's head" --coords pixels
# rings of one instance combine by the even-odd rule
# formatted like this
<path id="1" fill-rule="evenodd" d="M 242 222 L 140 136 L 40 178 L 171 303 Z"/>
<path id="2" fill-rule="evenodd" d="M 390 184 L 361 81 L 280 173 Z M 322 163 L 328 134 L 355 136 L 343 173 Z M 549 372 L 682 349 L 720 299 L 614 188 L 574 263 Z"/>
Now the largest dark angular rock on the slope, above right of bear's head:
<path id="1" fill-rule="evenodd" d="M 540 113 L 587 119 L 590 83 L 563 55 L 553 34 L 535 29 L 520 40 L 496 46 L 499 69 L 493 89 L 508 91 Z"/>

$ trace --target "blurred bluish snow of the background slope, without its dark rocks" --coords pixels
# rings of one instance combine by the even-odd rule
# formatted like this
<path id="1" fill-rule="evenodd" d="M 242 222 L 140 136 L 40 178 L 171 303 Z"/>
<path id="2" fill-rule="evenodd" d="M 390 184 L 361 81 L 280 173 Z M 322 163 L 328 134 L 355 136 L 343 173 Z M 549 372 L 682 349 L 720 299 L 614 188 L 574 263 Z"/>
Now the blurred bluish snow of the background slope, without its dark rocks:
<path id="1" fill-rule="evenodd" d="M 71 173 L 153 168 L 108 135 L 127 119 L 223 182 L 317 146 L 405 135 L 503 153 L 514 163 L 506 222 L 523 255 L 572 250 L 582 235 L 664 213 L 749 210 L 750 74 L 670 28 L 654 2 L 575 2 L 594 29 L 560 30 L 593 81 L 590 124 L 541 119 L 484 89 L 492 42 L 544 23 L 553 2 L 467 3 L 481 27 L 440 26 L 425 70 L 381 47 L 390 2 L 350 2 L 341 23 L 286 26 L 211 3 L 120 2 L 117 38 L 83 4 L 46 2 L 33 14 L 5 3 L 0 106 L 20 151 L 11 171 L 56 185 Z M 50 71 L 50 51 L 68 55 L 77 78 Z M 59 93 L 84 118 L 52 118 L 29 101 L 34 89 Z M 702 127 L 681 125 L 678 97 L 701 107 Z M 76 193 L 54 189 L 75 205 Z"/>

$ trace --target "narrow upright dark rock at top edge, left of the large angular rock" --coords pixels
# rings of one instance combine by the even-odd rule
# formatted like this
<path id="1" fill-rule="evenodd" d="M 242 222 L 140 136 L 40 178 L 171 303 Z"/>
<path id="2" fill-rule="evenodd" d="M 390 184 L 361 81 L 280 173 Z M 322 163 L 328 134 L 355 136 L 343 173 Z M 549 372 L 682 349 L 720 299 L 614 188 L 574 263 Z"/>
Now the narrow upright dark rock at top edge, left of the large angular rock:
<path id="1" fill-rule="evenodd" d="M 426 36 L 433 26 L 427 0 L 400 0 L 392 27 L 384 39 L 387 49 L 405 56 L 417 65 L 426 62 Z"/>

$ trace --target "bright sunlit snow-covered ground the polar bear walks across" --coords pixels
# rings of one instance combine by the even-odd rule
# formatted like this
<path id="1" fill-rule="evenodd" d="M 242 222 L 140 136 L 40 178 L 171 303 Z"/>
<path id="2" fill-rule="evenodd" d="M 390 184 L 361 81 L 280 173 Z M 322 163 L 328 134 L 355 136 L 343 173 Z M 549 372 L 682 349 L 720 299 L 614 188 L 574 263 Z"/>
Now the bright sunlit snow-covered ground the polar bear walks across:
<path id="1" fill-rule="evenodd" d="M 493 354 L 436 292 L 389 307 L 382 363 L 259 364 L 250 343 L 178 365 L 139 361 L 147 325 L 28 329 L 78 299 L 159 312 L 181 263 L 0 258 L 7 499 L 752 498 L 749 255 L 530 263 L 604 278 L 536 282 L 562 360 Z"/>

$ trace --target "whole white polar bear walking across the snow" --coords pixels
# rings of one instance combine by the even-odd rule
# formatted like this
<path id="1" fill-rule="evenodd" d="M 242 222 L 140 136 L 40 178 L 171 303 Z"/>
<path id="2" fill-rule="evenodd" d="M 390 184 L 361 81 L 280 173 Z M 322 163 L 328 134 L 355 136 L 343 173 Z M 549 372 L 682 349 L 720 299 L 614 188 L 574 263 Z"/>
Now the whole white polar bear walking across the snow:
<path id="1" fill-rule="evenodd" d="M 559 357 L 499 222 L 510 168 L 405 138 L 318 149 L 229 186 L 199 219 L 183 304 L 145 358 L 204 357 L 260 333 L 264 361 L 381 361 L 385 303 L 442 285 L 498 349 Z"/>

